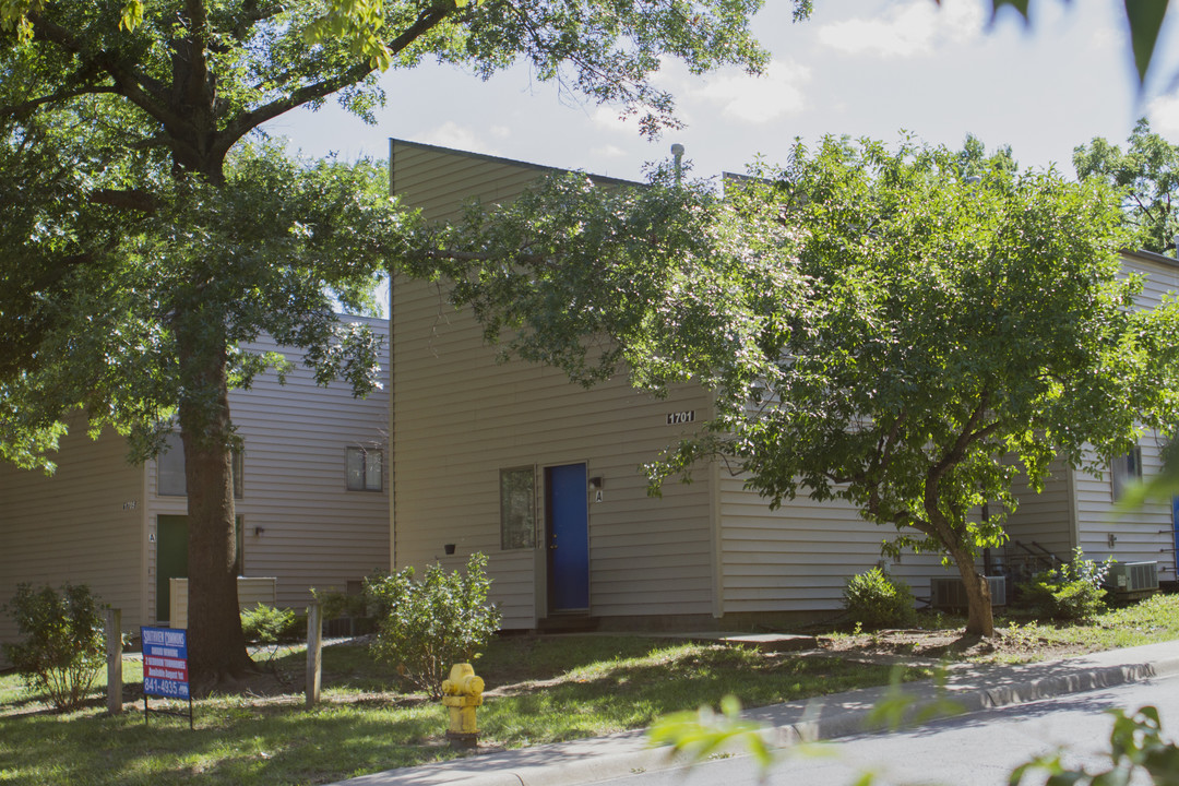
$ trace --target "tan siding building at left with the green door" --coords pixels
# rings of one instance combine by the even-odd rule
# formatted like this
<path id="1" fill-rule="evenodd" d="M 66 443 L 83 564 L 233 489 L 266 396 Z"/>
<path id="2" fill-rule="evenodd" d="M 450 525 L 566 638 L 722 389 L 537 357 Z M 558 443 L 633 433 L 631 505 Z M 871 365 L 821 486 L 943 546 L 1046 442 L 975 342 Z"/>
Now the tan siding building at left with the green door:
<path id="1" fill-rule="evenodd" d="M 387 336 L 384 319 L 348 319 Z M 251 349 L 284 351 L 271 342 Z M 302 612 L 311 587 L 345 590 L 390 566 L 389 394 L 360 399 L 343 383 L 317 385 L 301 357 L 285 354 L 297 364 L 285 385 L 265 375 L 230 394 L 243 441 L 236 507 L 243 575 L 274 577 L 278 606 Z M 382 368 L 388 346 L 384 354 Z M 183 489 L 160 484 L 160 462 L 130 464 L 123 437 L 91 441 L 77 425 L 53 476 L 0 467 L 0 603 L 21 582 L 70 581 L 121 608 L 125 629 L 165 622 L 169 599 L 158 588 L 183 568 L 162 554 L 171 547 L 182 564 L 186 559 Z M 349 453 L 357 450 L 381 465 L 362 484 L 368 489 L 350 490 Z M 14 634 L 11 617 L 0 615 L 0 641 Z"/>

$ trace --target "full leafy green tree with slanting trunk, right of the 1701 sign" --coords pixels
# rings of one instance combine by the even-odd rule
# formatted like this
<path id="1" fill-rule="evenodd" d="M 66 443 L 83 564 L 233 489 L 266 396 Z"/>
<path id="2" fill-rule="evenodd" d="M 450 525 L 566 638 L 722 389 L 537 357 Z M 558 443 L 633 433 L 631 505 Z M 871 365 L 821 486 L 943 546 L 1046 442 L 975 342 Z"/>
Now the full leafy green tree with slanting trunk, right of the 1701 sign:
<path id="1" fill-rule="evenodd" d="M 652 462 L 656 486 L 718 458 L 771 507 L 847 500 L 897 528 L 889 548 L 956 564 L 968 630 L 989 634 L 975 557 L 1005 540 L 1016 474 L 1174 417 L 1177 310 L 1132 310 L 1106 185 L 975 164 L 828 138 L 724 196 L 568 176 L 432 230 L 413 262 L 520 357 L 710 389 L 714 416 Z"/>

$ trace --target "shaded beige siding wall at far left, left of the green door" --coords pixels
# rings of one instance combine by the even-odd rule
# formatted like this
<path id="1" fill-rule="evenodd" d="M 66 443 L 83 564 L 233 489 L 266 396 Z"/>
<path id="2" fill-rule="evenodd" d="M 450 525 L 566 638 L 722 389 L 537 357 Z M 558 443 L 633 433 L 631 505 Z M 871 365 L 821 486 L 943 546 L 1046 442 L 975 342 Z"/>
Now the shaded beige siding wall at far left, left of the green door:
<path id="1" fill-rule="evenodd" d="M 54 475 L 0 465 L 0 605 L 19 583 L 68 581 L 123 609 L 125 630 L 149 622 L 140 597 L 143 468 L 126 457 L 121 437 L 104 432 L 92 441 L 75 420 Z M 14 638 L 11 615 L 0 614 L 0 641 Z"/>

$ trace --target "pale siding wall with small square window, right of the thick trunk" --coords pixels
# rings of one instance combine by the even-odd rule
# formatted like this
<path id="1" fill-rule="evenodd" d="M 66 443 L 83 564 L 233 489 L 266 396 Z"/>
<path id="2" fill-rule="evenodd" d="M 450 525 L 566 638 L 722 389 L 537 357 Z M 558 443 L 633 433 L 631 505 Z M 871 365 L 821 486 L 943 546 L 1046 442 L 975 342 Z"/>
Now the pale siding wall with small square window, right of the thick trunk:
<path id="1" fill-rule="evenodd" d="M 388 335 L 384 319 L 343 319 Z M 316 384 L 301 352 L 270 339 L 249 349 L 283 351 L 296 366 L 285 384 L 266 374 L 250 390 L 230 394 L 230 412 L 244 444 L 244 496 L 236 504 L 244 529 L 243 570 L 246 576 L 276 577 L 278 606 L 302 612 L 311 600 L 310 588 L 343 592 L 348 581 L 390 567 L 389 391 L 354 398 L 343 382 Z M 388 345 L 381 365 L 388 368 Z M 383 451 L 383 491 L 348 490 L 349 447 Z M 154 528 L 158 515 L 186 513 L 185 497 L 156 494 L 156 462 L 149 462 L 147 488 L 149 527 Z M 154 563 L 152 549 L 152 568 Z M 154 570 L 145 592 L 154 609 Z"/>

